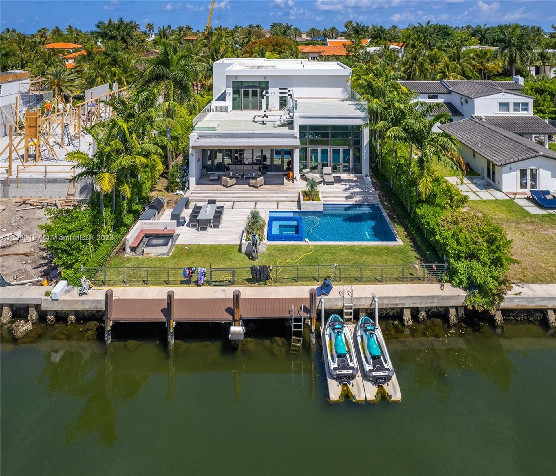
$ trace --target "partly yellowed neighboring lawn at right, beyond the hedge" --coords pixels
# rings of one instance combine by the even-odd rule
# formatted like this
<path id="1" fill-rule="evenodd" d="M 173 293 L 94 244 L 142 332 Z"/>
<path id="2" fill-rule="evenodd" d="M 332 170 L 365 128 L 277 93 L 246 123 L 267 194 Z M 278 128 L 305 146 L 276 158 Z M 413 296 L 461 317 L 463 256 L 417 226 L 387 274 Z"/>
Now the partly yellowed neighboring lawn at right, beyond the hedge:
<path id="1" fill-rule="evenodd" d="M 471 210 L 488 214 L 513 240 L 513 282 L 556 282 L 556 214 L 532 215 L 513 200 L 474 200 Z"/>

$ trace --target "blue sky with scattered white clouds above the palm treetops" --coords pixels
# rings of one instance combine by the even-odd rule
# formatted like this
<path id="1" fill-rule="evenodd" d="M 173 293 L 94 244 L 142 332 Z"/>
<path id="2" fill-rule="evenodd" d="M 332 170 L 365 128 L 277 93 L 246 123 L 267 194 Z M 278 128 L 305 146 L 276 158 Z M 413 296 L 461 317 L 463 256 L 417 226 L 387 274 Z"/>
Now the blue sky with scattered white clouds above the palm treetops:
<path id="1" fill-rule="evenodd" d="M 38 28 L 69 24 L 83 30 L 108 18 L 124 17 L 144 27 L 190 24 L 205 27 L 210 0 L 0 0 L 0 26 L 32 33 Z M 365 24 L 397 24 L 431 20 L 451 25 L 523 23 L 550 30 L 556 23 L 556 1 L 535 0 L 217 0 L 212 26 L 272 22 L 343 28 L 352 19 Z"/>

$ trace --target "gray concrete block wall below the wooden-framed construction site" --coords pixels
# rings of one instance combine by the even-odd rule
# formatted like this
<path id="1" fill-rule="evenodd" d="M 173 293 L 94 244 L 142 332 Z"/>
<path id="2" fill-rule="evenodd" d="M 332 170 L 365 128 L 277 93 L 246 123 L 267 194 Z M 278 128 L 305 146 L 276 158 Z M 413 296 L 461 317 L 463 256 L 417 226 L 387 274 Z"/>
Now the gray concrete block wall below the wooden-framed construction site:
<path id="1" fill-rule="evenodd" d="M 4 179 L 0 182 L 0 197 L 2 199 L 18 199 L 29 197 L 33 199 L 65 199 L 68 191 L 68 179 L 48 179 L 46 188 L 44 179 L 41 177 L 26 177 L 19 179 L 16 186 L 15 177 Z M 80 180 L 76 182 L 76 200 L 88 200 L 93 193 L 92 180 Z"/>

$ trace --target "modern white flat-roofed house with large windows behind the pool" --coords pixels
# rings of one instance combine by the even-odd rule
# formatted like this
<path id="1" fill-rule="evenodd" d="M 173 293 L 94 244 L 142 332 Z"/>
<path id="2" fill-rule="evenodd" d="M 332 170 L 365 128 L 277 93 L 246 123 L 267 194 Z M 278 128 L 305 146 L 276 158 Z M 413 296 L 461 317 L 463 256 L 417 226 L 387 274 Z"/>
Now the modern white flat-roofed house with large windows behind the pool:
<path id="1" fill-rule="evenodd" d="M 367 104 L 351 91 L 351 69 L 307 59 L 225 58 L 213 65 L 213 100 L 193 121 L 190 187 L 231 165 L 262 173 L 369 173 Z"/>

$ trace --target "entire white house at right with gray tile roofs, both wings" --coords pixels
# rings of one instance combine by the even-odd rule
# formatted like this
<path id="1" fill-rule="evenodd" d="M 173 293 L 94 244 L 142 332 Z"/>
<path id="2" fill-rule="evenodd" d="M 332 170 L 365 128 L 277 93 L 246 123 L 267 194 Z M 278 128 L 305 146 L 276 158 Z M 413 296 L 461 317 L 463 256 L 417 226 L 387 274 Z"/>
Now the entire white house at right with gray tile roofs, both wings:
<path id="1" fill-rule="evenodd" d="M 414 101 L 438 102 L 451 122 L 436 125 L 460 143 L 473 170 L 504 192 L 556 190 L 556 152 L 548 148 L 556 128 L 533 114 L 534 97 L 514 81 L 400 81 Z M 536 141 L 542 141 L 542 145 Z"/>

